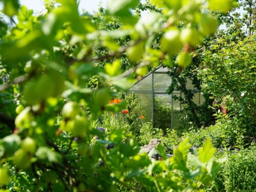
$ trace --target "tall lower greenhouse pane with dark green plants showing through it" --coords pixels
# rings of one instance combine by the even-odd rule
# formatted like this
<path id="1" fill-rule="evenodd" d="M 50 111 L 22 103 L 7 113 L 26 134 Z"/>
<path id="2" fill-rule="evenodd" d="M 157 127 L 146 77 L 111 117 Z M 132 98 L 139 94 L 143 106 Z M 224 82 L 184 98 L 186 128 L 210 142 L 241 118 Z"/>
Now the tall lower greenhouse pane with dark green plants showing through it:
<path id="1" fill-rule="evenodd" d="M 165 129 L 172 126 L 172 97 L 168 94 L 155 94 L 154 126 Z"/>

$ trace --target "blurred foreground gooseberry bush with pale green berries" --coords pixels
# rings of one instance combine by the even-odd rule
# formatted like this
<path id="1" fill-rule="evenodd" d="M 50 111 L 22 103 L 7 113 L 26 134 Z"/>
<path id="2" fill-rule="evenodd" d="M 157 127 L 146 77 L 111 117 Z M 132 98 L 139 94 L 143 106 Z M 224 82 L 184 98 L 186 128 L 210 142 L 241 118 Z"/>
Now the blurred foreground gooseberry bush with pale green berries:
<path id="1" fill-rule="evenodd" d="M 209 10 L 227 12 L 233 1 L 151 0 L 158 11 L 137 17 L 131 10 L 139 0 L 110 0 L 105 19 L 115 17 L 122 25 L 111 31 L 81 16 L 75 0 L 46 0 L 39 15 L 17 0 L 1 2 L 13 21 L 12 27 L 0 23 L 0 72 L 7 79 L 0 85 L 3 190 L 136 191 L 135 182 L 148 191 L 191 191 L 210 183 L 220 168 L 210 140 L 198 157 L 188 155 L 188 139 L 172 158 L 158 145 L 163 160 L 153 161 L 139 153 L 134 139 L 123 142 L 122 127 L 105 138 L 95 125 L 104 112 L 125 109 L 125 101 L 110 101 L 130 87 L 135 73 L 144 75 L 160 63 L 172 66 L 177 54 L 178 65 L 188 66 L 189 50 L 217 30 Z M 119 46 L 123 37 L 130 41 Z M 152 47 L 157 38 L 160 49 Z M 108 52 L 97 55 L 98 48 Z M 137 63 L 124 73 L 123 55 Z M 101 68 L 100 61 L 109 63 Z M 102 83 L 93 89 L 88 84 L 95 75 Z"/>

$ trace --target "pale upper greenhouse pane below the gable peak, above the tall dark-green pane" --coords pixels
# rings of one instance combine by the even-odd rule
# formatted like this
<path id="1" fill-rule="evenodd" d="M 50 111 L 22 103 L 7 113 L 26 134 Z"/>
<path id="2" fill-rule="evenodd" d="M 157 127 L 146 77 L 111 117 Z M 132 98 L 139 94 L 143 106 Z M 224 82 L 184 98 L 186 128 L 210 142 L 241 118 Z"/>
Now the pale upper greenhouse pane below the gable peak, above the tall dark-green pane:
<path id="1" fill-rule="evenodd" d="M 170 86 L 172 78 L 167 74 L 154 74 L 154 92 L 164 92 Z"/>

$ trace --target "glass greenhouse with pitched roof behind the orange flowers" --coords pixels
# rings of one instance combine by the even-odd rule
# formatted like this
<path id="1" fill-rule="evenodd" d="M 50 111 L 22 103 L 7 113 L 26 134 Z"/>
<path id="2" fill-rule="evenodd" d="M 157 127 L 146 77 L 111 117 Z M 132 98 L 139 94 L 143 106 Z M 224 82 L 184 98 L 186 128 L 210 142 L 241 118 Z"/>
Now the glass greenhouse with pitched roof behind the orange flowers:
<path id="1" fill-rule="evenodd" d="M 184 96 L 180 90 L 175 90 L 172 94 L 167 94 L 166 90 L 172 83 L 167 67 L 159 66 L 152 72 L 145 75 L 141 80 L 133 84 L 126 92 L 132 92 L 139 97 L 139 113 L 146 121 L 152 121 L 155 126 L 164 128 L 179 127 L 181 118 L 186 116 L 183 106 L 174 96 Z M 187 77 L 186 89 L 194 93 L 193 101 L 200 105 L 204 102 L 201 92 L 196 89 L 192 80 Z"/>

